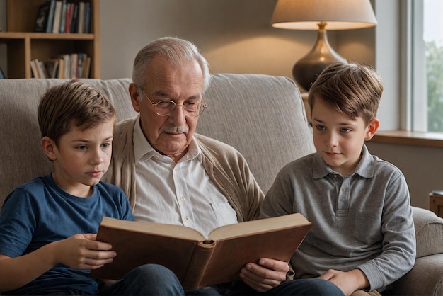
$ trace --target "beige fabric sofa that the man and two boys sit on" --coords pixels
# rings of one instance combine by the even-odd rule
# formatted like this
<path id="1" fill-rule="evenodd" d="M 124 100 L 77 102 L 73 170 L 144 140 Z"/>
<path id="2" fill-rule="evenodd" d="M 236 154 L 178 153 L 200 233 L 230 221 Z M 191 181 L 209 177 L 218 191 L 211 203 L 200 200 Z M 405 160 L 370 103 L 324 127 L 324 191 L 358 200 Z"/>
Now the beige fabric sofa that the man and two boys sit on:
<path id="1" fill-rule="evenodd" d="M 114 103 L 117 120 L 131 118 L 130 79 L 84 79 Z M 40 148 L 38 100 L 59 79 L 0 79 L 0 205 L 16 186 L 51 171 Z M 314 151 L 311 127 L 294 82 L 283 76 L 212 74 L 208 109 L 197 132 L 236 147 L 266 192 L 289 161 Z M 391 285 L 393 295 L 443 295 L 443 219 L 413 207 L 417 259 Z"/>

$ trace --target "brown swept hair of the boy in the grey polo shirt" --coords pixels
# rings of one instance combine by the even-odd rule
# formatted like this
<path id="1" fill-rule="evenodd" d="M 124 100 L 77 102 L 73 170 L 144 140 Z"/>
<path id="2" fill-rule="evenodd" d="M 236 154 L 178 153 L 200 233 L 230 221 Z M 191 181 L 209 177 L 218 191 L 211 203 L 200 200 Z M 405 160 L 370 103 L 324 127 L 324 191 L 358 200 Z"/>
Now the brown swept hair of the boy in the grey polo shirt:
<path id="1" fill-rule="evenodd" d="M 309 89 L 308 102 L 313 110 L 317 98 L 339 113 L 364 123 L 376 118 L 383 83 L 372 67 L 357 63 L 335 63 L 326 67 Z"/>

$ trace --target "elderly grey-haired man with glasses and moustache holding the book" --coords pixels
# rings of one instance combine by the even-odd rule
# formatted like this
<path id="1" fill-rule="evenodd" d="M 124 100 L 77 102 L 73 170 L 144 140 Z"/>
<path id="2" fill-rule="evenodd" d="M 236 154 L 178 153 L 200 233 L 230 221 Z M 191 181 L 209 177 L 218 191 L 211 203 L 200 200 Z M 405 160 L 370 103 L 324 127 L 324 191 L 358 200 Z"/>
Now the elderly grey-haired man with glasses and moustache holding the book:
<path id="1" fill-rule="evenodd" d="M 207 108 L 209 80 L 206 59 L 187 40 L 160 38 L 135 57 L 129 91 L 139 115 L 117 124 L 105 177 L 127 193 L 135 220 L 183 224 L 208 234 L 258 218 L 264 195 L 243 156 L 195 134 Z M 304 280 L 287 281 L 288 272 L 287 262 L 262 258 L 246 264 L 242 280 L 200 292 L 302 295 Z M 333 285 L 321 283 L 308 294 L 334 295 Z"/>

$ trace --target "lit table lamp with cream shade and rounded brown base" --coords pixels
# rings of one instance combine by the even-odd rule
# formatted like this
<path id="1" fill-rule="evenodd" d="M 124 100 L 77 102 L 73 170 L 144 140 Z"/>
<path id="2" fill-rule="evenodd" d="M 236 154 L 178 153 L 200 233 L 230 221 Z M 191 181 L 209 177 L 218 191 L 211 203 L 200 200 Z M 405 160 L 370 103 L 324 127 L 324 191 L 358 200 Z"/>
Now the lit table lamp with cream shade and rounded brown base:
<path id="1" fill-rule="evenodd" d="M 272 15 L 274 28 L 318 30 L 316 44 L 292 69 L 295 81 L 306 91 L 329 64 L 346 62 L 330 47 L 326 29 L 369 28 L 376 23 L 369 0 L 277 0 Z"/>

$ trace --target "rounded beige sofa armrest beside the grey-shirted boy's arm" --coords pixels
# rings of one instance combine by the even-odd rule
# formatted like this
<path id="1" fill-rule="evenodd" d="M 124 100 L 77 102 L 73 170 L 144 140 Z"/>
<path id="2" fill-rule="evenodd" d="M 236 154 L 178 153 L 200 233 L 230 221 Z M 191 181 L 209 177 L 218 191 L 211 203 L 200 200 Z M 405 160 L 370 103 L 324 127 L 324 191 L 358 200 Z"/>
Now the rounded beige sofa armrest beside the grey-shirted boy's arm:
<path id="1" fill-rule="evenodd" d="M 417 258 L 443 253 L 443 219 L 430 210 L 413 207 Z"/>

